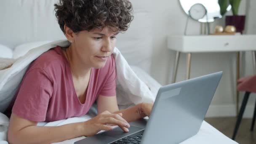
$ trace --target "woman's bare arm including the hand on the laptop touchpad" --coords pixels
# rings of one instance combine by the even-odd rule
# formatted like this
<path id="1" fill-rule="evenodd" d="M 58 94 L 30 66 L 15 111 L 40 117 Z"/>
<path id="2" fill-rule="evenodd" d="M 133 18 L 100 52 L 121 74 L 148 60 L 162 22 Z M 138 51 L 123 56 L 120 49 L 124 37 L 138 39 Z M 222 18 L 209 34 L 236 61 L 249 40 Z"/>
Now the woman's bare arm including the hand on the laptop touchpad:
<path id="1" fill-rule="evenodd" d="M 101 130 L 112 130 L 108 124 L 118 125 L 120 128 L 130 127 L 118 116 L 120 115 L 105 111 L 85 122 L 48 127 L 37 126 L 37 122 L 12 114 L 7 141 L 10 144 L 49 144 L 79 136 L 93 136 Z"/>

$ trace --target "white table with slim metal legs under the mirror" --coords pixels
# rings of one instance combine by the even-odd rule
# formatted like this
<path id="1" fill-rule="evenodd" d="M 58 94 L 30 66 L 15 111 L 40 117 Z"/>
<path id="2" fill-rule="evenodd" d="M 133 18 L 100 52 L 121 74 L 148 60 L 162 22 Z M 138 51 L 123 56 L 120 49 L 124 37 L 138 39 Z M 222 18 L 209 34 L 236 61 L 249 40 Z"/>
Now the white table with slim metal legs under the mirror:
<path id="1" fill-rule="evenodd" d="M 198 36 L 169 36 L 168 49 L 176 51 L 172 83 L 176 81 L 179 54 L 187 53 L 186 79 L 190 77 L 192 53 L 237 52 L 236 81 L 240 75 L 240 51 L 253 52 L 253 67 L 256 70 L 256 35 L 198 35 Z M 238 97 L 236 91 L 236 112 L 238 113 Z"/>

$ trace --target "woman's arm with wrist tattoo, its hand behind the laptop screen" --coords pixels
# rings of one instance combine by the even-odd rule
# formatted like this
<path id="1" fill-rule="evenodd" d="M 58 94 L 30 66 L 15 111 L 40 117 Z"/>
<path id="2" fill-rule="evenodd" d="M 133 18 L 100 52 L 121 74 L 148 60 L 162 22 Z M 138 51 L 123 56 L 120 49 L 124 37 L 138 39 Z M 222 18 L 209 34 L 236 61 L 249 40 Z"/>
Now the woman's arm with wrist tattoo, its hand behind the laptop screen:
<path id="1" fill-rule="evenodd" d="M 116 96 L 102 96 L 99 95 L 97 99 L 97 109 L 101 113 L 105 110 L 108 110 L 111 113 L 122 113 L 123 118 L 128 121 L 135 121 L 140 118 L 150 115 L 153 104 L 150 103 L 140 103 L 134 107 L 128 109 L 119 110 L 117 107 L 117 98 Z"/>

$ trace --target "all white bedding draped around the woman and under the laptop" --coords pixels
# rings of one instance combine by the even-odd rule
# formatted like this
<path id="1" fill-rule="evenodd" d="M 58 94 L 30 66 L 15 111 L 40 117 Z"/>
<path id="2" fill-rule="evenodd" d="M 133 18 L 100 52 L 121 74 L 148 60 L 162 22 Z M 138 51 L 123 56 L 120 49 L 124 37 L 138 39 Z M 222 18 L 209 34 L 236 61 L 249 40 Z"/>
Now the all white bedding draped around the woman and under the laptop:
<path id="1" fill-rule="evenodd" d="M 25 56 L 17 59 L 12 67 L 0 70 L 0 112 L 3 112 L 11 101 L 16 88 L 19 86 L 27 66 L 36 59 L 40 54 L 47 51 L 56 45 L 66 46 L 67 40 L 54 41 L 38 48 L 30 50 Z M 157 83 L 152 77 L 141 71 L 137 67 L 131 67 L 121 55 L 120 51 L 114 49 L 114 58 L 116 61 L 117 71 L 117 101 L 120 109 L 130 107 L 131 105 L 140 102 L 153 102 L 157 94 L 160 84 Z M 136 74 L 135 74 L 136 73 Z M 95 116 L 93 111 L 82 117 L 72 117 L 66 120 L 59 120 L 50 123 L 38 123 L 40 126 L 57 126 L 67 123 L 75 123 L 89 120 Z M 7 129 L 9 119 L 3 113 L 0 113 L 0 144 L 8 144 L 6 141 Z M 75 141 L 85 138 L 84 136 L 62 141 L 56 144 L 73 144 Z M 213 128 L 211 125 L 203 122 L 200 131 L 197 135 L 193 136 L 181 144 L 237 144 L 221 132 Z"/>

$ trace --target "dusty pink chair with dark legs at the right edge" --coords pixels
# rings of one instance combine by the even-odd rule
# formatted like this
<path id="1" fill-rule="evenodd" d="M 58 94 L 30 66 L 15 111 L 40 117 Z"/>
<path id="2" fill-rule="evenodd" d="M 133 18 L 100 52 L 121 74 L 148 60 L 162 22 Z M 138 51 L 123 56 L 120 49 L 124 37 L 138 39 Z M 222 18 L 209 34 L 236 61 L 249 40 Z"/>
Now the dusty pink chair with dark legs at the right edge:
<path id="1" fill-rule="evenodd" d="M 245 91 L 245 95 L 243 97 L 243 103 L 241 105 L 238 117 L 237 117 L 237 122 L 235 124 L 235 130 L 233 132 L 232 139 L 235 140 L 235 136 L 237 134 L 237 130 L 239 128 L 239 125 L 241 123 L 241 120 L 243 118 L 243 113 L 245 111 L 245 107 L 247 104 L 247 101 L 249 99 L 250 93 L 256 93 L 256 75 L 253 76 L 248 76 L 248 77 L 242 77 L 238 81 L 238 86 L 237 90 L 238 91 Z M 255 117 L 256 117 L 256 103 L 254 107 L 254 112 L 253 112 L 253 120 L 251 124 L 251 131 L 253 131 L 254 123 L 255 123 Z"/>

